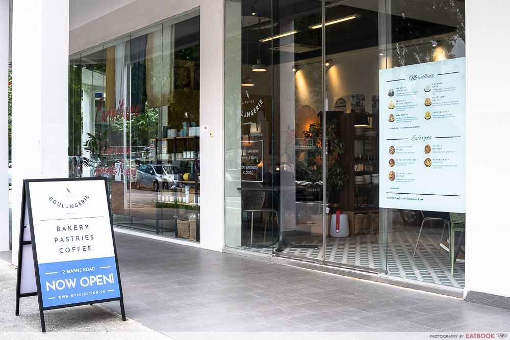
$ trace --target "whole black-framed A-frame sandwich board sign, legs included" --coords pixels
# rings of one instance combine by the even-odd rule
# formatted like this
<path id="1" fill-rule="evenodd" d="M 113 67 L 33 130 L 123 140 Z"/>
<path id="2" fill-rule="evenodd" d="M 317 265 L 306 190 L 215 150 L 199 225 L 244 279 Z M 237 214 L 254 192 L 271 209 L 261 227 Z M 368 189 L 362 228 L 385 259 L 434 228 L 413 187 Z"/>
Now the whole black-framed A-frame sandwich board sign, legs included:
<path id="1" fill-rule="evenodd" d="M 44 310 L 124 298 L 106 178 L 25 179 L 21 202 L 19 299 L 37 295 Z"/>

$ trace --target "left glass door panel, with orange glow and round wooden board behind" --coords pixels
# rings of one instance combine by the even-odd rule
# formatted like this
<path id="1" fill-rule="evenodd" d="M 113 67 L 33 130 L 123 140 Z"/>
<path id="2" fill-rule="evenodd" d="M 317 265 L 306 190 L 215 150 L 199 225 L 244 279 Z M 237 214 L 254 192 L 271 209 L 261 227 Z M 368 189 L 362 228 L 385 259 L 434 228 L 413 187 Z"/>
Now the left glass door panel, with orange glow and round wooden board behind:
<path id="1" fill-rule="evenodd" d="M 272 28 L 259 40 L 273 61 L 274 252 L 318 261 L 327 224 L 322 13 L 315 0 L 273 0 Z"/>

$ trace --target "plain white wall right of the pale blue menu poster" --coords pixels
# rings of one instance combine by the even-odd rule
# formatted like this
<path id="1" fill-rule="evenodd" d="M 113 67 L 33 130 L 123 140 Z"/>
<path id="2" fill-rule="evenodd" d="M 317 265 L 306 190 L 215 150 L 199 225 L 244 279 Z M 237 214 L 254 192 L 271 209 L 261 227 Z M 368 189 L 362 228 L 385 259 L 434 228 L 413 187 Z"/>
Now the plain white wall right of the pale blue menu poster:
<path id="1" fill-rule="evenodd" d="M 508 12 L 507 0 L 466 2 L 465 294 L 510 297 Z"/>

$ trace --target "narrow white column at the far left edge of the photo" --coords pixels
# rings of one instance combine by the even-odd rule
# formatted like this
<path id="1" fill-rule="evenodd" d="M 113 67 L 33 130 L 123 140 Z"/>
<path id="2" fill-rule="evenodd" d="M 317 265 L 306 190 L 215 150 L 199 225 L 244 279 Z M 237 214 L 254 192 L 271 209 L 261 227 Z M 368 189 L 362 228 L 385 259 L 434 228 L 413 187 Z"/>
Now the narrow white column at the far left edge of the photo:
<path id="1" fill-rule="evenodd" d="M 9 250 L 9 185 L 7 180 L 9 72 L 9 0 L 0 0 L 0 251 Z"/>

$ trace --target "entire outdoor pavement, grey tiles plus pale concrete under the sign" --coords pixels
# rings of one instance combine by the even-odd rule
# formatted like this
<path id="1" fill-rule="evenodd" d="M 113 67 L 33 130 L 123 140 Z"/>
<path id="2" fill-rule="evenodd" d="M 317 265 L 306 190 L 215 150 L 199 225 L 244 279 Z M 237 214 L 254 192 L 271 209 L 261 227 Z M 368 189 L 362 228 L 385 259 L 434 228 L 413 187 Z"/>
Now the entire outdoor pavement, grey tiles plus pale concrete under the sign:
<path id="1" fill-rule="evenodd" d="M 121 321 L 118 302 L 101 304 L 108 309 L 49 310 L 44 313 L 48 334 L 73 331 L 80 338 L 90 335 L 80 332 L 94 331 L 100 338 L 175 339 L 510 336 L 507 309 L 120 232 L 115 238 L 131 320 Z M 0 264 L 0 319 L 5 319 L 0 331 L 39 331 L 35 297 L 21 299 L 20 316 L 14 316 L 15 270 Z"/>

